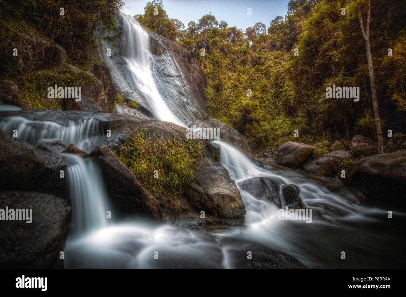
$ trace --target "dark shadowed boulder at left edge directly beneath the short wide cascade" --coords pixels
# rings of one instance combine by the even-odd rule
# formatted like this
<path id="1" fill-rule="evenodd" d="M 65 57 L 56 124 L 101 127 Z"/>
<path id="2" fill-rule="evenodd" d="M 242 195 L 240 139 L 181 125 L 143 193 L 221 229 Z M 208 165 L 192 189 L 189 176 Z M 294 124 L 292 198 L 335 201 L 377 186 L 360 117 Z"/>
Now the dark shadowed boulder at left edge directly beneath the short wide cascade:
<path id="1" fill-rule="evenodd" d="M 58 154 L 43 151 L 0 130 L 0 190 L 35 191 L 65 198 L 66 164 Z"/>

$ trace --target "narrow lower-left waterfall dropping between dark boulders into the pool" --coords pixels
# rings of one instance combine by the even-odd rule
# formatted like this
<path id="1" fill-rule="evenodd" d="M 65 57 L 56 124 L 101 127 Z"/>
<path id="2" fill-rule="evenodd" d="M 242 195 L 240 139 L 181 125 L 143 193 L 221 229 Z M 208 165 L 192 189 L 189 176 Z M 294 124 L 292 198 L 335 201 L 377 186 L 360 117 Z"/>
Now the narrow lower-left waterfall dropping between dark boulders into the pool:
<path id="1" fill-rule="evenodd" d="M 108 196 L 100 169 L 91 158 L 62 154 L 72 208 L 71 232 L 83 233 L 107 225 Z"/>

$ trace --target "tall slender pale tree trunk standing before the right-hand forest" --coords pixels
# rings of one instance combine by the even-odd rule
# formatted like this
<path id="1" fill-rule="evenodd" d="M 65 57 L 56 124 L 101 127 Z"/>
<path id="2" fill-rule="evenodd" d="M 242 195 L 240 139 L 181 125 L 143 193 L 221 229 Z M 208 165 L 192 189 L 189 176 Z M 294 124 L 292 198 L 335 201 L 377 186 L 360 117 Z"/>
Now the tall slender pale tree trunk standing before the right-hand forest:
<path id="1" fill-rule="evenodd" d="M 359 3 L 359 0 L 358 0 Z M 361 10 L 358 6 L 358 17 L 359 24 L 361 26 L 361 33 L 365 41 L 365 49 L 367 51 L 367 61 L 368 61 L 368 73 L 369 73 L 369 82 L 371 84 L 371 97 L 372 97 L 372 106 L 374 108 L 374 117 L 375 117 L 375 127 L 376 127 L 376 137 L 378 138 L 378 153 L 383 154 L 383 137 L 382 137 L 382 128 L 380 123 L 379 108 L 378 108 L 378 95 L 376 94 L 375 86 L 375 75 L 374 68 L 372 67 L 372 56 L 371 56 L 371 47 L 369 46 L 369 19 L 371 17 L 371 0 L 368 3 L 368 17 L 366 31 L 362 22 Z"/>

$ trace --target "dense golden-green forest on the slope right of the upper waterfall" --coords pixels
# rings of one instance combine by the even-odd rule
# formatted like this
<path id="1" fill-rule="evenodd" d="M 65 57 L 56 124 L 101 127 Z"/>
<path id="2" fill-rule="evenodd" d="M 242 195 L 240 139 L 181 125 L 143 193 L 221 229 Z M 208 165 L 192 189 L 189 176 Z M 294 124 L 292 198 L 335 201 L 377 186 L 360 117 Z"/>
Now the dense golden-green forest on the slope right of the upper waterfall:
<path id="1" fill-rule="evenodd" d="M 272 149 L 287 140 L 350 140 L 355 134 L 374 139 L 365 42 L 356 7 L 365 17 L 367 1 L 357 3 L 290 0 L 285 17 L 276 17 L 267 29 L 257 22 L 245 31 L 209 13 L 174 34 L 209 79 L 209 115 L 243 133 L 254 149 Z M 384 136 L 388 129 L 405 132 L 404 11 L 405 0 L 371 1 L 369 39 Z M 393 56 L 387 55 L 389 48 Z M 326 99 L 326 87 L 333 84 L 360 87 L 360 101 Z M 299 138 L 294 138 L 295 129 Z"/>

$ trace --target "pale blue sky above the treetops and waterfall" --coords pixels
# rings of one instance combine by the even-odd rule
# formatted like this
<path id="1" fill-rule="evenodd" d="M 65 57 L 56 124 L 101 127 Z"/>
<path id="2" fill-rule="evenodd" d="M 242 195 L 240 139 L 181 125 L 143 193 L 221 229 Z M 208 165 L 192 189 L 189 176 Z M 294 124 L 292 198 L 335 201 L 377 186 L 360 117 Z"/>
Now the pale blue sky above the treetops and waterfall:
<path id="1" fill-rule="evenodd" d="M 123 0 L 121 9 L 129 15 L 144 14 L 144 6 L 152 0 Z M 289 0 L 162 0 L 163 8 L 171 19 L 179 19 L 187 28 L 190 21 L 199 22 L 199 19 L 212 13 L 218 20 L 226 21 L 229 27 L 236 26 L 245 31 L 255 23 L 262 22 L 266 28 L 278 15 L 287 14 Z M 252 15 L 247 15 L 251 8 Z"/>

